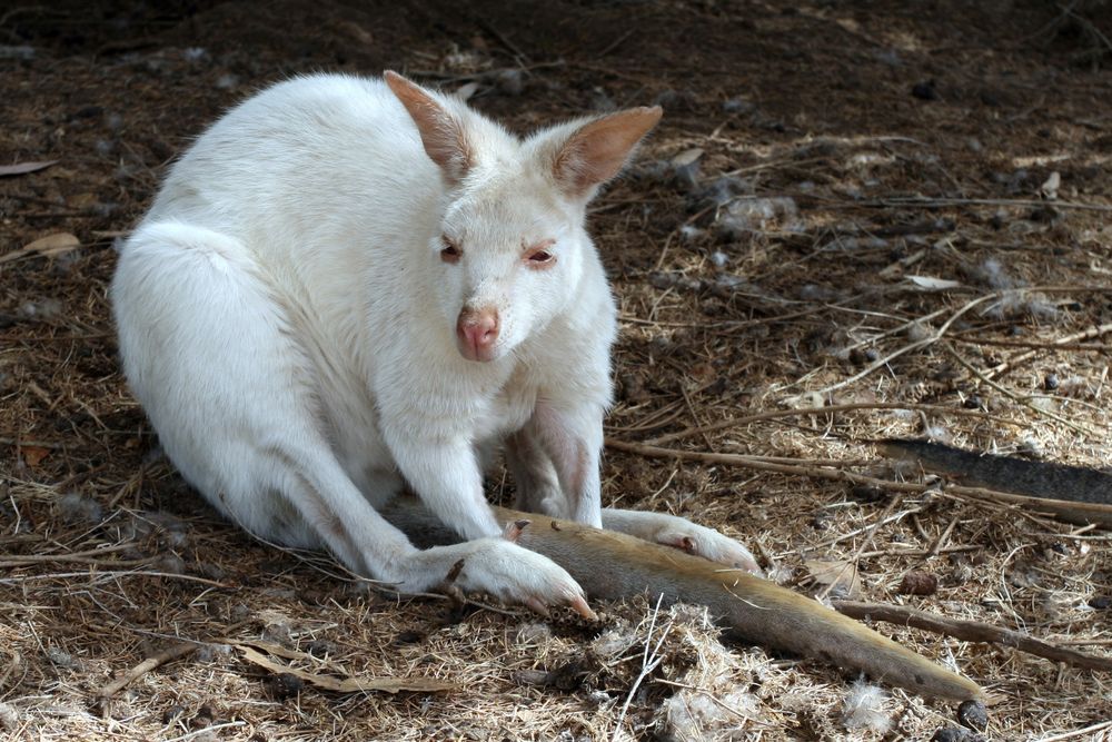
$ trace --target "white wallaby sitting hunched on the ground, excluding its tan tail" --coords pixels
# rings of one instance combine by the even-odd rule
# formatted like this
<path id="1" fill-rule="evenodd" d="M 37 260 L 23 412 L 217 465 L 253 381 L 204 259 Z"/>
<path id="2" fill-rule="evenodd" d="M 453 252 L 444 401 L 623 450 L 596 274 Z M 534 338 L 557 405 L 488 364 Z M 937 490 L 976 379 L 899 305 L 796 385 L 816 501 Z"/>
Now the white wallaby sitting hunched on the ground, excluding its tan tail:
<path id="1" fill-rule="evenodd" d="M 580 586 L 483 494 L 756 570 L 685 520 L 603 509 L 616 309 L 584 228 L 661 109 L 525 139 L 387 72 L 232 109 L 170 170 L 111 295 L 131 389 L 215 507 L 401 592 L 450 578 L 542 613 Z M 466 541 L 418 550 L 376 508 L 408 485 Z M 608 565 L 598 564 L 598 570 Z"/>

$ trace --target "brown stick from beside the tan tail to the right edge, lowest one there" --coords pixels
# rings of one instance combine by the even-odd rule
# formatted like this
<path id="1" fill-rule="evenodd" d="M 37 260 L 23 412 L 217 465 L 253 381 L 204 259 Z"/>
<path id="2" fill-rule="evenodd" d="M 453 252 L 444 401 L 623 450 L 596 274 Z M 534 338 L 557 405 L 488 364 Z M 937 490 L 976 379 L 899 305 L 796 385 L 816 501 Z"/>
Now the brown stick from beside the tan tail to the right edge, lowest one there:
<path id="1" fill-rule="evenodd" d="M 885 621 L 902 626 L 914 626 L 915 629 L 953 636 L 965 642 L 1001 644 L 1045 660 L 1064 662 L 1074 667 L 1112 672 L 1112 657 L 1093 656 L 1084 652 L 1078 652 L 1076 650 L 1070 650 L 1040 639 L 1034 639 L 1019 631 L 1002 629 L 1001 626 L 994 626 L 980 621 L 947 619 L 903 605 L 860 603 L 856 601 L 834 601 L 833 605 L 838 613 L 844 613 L 853 619 L 872 619 L 873 621 Z"/>

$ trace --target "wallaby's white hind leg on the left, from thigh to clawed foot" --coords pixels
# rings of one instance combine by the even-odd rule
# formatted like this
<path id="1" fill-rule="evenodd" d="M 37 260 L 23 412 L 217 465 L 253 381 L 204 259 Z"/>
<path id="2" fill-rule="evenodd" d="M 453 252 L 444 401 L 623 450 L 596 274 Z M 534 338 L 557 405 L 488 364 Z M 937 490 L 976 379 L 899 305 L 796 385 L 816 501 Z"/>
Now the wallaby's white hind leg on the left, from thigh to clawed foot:
<path id="1" fill-rule="evenodd" d="M 500 537 L 419 551 L 387 523 L 330 448 L 298 328 L 238 240 L 145 225 L 112 285 L 132 390 L 185 477 L 267 540 L 327 546 L 354 572 L 425 592 L 451 578 L 543 610 L 589 614 L 583 591 L 547 557 Z"/>

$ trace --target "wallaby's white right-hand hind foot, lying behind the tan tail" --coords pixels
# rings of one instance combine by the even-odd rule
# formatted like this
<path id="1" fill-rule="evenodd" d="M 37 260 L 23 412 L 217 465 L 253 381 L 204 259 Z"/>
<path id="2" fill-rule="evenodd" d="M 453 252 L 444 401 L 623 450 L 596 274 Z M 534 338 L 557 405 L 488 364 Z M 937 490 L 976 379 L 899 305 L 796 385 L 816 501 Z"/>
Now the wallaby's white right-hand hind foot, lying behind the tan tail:
<path id="1" fill-rule="evenodd" d="M 603 509 L 603 527 L 763 575 L 749 550 L 713 528 L 696 525 L 675 515 L 608 507 Z"/>

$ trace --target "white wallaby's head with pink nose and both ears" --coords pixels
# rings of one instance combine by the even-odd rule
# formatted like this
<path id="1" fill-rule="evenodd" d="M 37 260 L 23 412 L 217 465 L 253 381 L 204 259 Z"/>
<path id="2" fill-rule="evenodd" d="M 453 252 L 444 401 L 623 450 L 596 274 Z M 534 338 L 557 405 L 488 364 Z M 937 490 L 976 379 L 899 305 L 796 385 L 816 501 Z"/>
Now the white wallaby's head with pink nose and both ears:
<path id="1" fill-rule="evenodd" d="M 576 299 L 596 257 L 587 202 L 661 118 L 635 108 L 519 140 L 461 101 L 386 73 L 446 186 L 424 278 L 470 360 L 510 353 Z"/>

